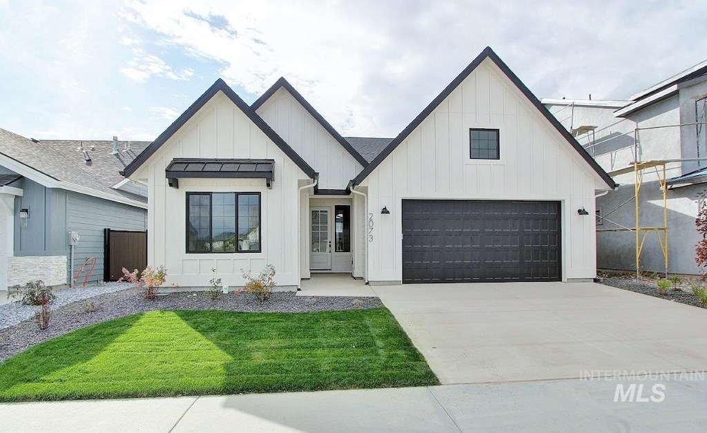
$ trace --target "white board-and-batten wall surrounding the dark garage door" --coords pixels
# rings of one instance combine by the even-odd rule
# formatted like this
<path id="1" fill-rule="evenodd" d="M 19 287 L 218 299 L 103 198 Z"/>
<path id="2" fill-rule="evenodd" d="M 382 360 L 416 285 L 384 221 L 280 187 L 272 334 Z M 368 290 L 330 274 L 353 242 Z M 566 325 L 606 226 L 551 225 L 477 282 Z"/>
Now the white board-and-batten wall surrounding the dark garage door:
<path id="1" fill-rule="evenodd" d="M 498 160 L 469 158 L 469 129 L 500 130 Z M 402 281 L 402 200 L 561 202 L 562 278 L 596 274 L 595 189 L 607 185 L 486 59 L 361 184 L 373 240 L 368 279 Z M 367 187 L 367 189 L 366 189 Z M 380 214 L 382 207 L 389 215 Z M 579 216 L 584 207 L 589 216 Z"/>

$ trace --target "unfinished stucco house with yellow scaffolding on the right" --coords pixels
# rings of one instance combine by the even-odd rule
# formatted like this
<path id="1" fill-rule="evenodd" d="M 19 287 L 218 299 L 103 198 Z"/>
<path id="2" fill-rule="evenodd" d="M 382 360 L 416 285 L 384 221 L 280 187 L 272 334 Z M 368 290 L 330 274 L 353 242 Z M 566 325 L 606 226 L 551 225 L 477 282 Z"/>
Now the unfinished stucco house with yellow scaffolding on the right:
<path id="1" fill-rule="evenodd" d="M 636 270 L 638 262 L 662 273 L 667 263 L 669 273 L 699 274 L 694 222 L 697 194 L 707 189 L 707 61 L 626 100 L 542 103 L 619 183 L 597 197 L 597 265 Z"/>

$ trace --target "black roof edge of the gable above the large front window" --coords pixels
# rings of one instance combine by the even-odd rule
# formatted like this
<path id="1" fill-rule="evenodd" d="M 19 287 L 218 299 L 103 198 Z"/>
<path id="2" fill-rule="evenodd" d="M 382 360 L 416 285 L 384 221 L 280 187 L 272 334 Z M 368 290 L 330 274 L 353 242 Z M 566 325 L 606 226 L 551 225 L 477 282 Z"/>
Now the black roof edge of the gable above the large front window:
<path id="1" fill-rule="evenodd" d="M 216 82 L 209 87 L 206 92 L 204 92 L 203 95 L 199 96 L 199 98 L 194 101 L 194 103 L 187 108 L 185 112 L 180 115 L 180 117 L 177 117 L 177 120 L 173 122 L 170 127 L 165 129 L 165 132 L 160 134 L 159 137 L 155 139 L 152 144 L 147 146 L 147 149 L 145 149 L 141 154 L 135 158 L 132 163 L 129 163 L 128 166 L 122 171 L 122 175 L 124 175 L 126 178 L 129 177 L 129 175 L 132 175 L 135 173 L 135 171 L 145 163 L 145 161 L 152 156 L 157 149 L 160 149 L 160 147 L 167 142 L 170 137 L 172 137 L 182 126 L 185 125 L 191 119 L 201 107 L 203 107 L 211 98 L 213 98 L 218 91 L 223 92 L 224 95 L 228 97 L 228 99 L 231 100 L 235 104 L 236 107 L 240 108 L 240 110 L 245 114 L 257 127 L 260 128 L 262 132 L 264 132 L 265 135 L 271 141 L 278 146 L 281 151 L 284 151 L 284 153 L 294 162 L 297 164 L 297 166 L 310 178 L 314 179 L 316 177 L 316 173 L 312 167 L 309 166 L 308 163 L 305 162 L 305 160 L 297 154 L 296 151 L 294 151 L 276 132 L 272 130 L 271 127 L 267 125 L 267 123 L 260 118 L 259 115 L 253 111 L 250 106 L 245 103 L 243 99 L 238 96 L 232 88 L 226 84 L 226 81 L 223 81 L 222 79 L 216 80 Z"/>

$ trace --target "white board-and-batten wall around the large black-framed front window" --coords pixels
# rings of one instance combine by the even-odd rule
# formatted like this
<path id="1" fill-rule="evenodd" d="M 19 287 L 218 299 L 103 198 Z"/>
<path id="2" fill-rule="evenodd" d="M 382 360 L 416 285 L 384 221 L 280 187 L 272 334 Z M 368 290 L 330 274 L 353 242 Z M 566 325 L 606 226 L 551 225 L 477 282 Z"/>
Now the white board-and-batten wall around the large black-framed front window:
<path id="1" fill-rule="evenodd" d="M 270 158 L 274 182 L 263 179 L 180 179 L 179 189 L 165 179 L 173 158 Z M 148 185 L 148 264 L 167 267 L 166 286 L 207 287 L 216 269 L 223 284 L 239 287 L 241 270 L 257 275 L 271 264 L 278 286 L 298 287 L 298 182 L 307 175 L 259 127 L 219 92 L 188 120 L 132 178 Z M 187 192 L 260 192 L 260 253 L 187 253 Z"/>

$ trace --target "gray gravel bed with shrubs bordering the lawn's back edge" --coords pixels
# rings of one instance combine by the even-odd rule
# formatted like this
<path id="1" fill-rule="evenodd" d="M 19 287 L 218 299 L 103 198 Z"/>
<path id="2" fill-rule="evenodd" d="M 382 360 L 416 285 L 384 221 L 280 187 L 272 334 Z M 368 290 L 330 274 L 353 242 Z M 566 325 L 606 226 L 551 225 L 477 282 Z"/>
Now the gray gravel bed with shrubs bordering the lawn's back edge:
<path id="1" fill-rule="evenodd" d="M 220 294 L 211 300 L 206 291 L 175 293 L 158 296 L 155 301 L 144 300 L 136 289 L 99 294 L 56 308 L 52 305 L 49 329 L 39 330 L 32 320 L 0 330 L 0 362 L 30 346 L 69 333 L 94 323 L 154 310 L 223 310 L 293 313 L 298 311 L 335 311 L 378 308 L 383 304 L 373 297 L 296 296 L 294 291 L 278 291 L 260 303 L 253 294 Z M 1 308 L 1 307 L 0 307 Z M 34 309 L 32 310 L 34 311 Z M 0 311 L 0 315 L 3 311 Z M 34 313 L 33 313 L 34 314 Z"/>

